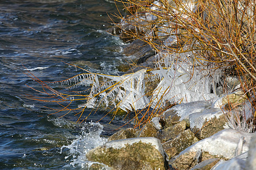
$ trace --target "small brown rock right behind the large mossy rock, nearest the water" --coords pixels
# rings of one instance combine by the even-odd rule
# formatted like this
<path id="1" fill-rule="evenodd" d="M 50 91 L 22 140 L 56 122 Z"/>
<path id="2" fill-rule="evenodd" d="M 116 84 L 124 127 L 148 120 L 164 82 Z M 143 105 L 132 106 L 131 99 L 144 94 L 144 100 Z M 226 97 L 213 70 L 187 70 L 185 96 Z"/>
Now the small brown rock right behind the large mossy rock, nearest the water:
<path id="1" fill-rule="evenodd" d="M 134 128 L 127 128 L 123 130 L 119 130 L 113 135 L 111 135 L 108 139 L 108 141 L 118 140 L 118 139 L 127 139 L 127 138 L 135 138 L 135 133 L 137 132 L 137 129 Z"/>

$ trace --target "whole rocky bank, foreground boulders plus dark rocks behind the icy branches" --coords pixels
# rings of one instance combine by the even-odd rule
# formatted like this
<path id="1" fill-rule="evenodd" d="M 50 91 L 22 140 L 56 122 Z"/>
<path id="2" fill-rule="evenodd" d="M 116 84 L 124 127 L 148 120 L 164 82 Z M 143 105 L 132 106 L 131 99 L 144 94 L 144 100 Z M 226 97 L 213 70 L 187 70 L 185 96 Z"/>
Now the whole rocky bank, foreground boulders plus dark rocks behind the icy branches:
<path id="1" fill-rule="evenodd" d="M 124 24 L 123 31 L 119 27 L 108 30 L 130 42 L 123 54 L 134 56 L 137 66 L 127 67 L 131 70 L 120 66 L 126 73 L 155 66 L 156 53 L 151 46 L 125 35 L 126 29 L 134 28 Z M 175 46 L 170 38 L 164 43 L 168 40 L 168 46 Z M 225 81 L 230 87 L 240 84 L 234 77 Z M 110 169 L 256 169 L 256 135 L 251 133 L 253 125 L 246 124 L 251 111 L 245 94 L 216 93 L 218 97 L 211 100 L 175 105 L 142 129 L 119 130 L 105 145 L 90 150 L 86 158 L 96 162 L 94 169 L 102 168 L 102 164 Z"/>

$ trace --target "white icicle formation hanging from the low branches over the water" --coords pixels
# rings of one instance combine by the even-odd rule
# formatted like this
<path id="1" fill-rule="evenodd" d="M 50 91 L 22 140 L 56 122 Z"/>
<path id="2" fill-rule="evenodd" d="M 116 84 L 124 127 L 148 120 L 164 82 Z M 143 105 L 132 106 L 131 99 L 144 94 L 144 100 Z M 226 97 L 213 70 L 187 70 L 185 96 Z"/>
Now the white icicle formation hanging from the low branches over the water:
<path id="1" fill-rule="evenodd" d="M 61 81 L 70 85 L 68 89 L 85 86 L 89 95 L 86 103 L 79 107 L 96 108 L 98 104 L 114 105 L 124 111 L 163 107 L 166 101 L 171 103 L 187 103 L 191 101 L 209 100 L 216 97 L 216 84 L 220 80 L 220 71 L 213 66 L 201 66 L 187 53 L 158 53 L 157 65 L 154 70 L 142 69 L 135 73 L 121 76 L 84 73 Z M 202 61 L 200 61 L 202 62 Z M 158 86 L 152 91 L 151 97 L 144 92 L 147 80 L 154 82 L 160 79 Z"/>

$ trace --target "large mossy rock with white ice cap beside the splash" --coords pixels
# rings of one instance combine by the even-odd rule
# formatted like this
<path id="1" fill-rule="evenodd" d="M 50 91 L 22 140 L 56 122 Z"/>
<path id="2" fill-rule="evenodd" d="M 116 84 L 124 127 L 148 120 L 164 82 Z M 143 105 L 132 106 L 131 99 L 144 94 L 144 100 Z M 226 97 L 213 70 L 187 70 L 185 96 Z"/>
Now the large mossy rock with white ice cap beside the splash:
<path id="1" fill-rule="evenodd" d="M 164 156 L 160 141 L 152 137 L 107 142 L 86 154 L 88 160 L 114 169 L 166 169 Z"/>

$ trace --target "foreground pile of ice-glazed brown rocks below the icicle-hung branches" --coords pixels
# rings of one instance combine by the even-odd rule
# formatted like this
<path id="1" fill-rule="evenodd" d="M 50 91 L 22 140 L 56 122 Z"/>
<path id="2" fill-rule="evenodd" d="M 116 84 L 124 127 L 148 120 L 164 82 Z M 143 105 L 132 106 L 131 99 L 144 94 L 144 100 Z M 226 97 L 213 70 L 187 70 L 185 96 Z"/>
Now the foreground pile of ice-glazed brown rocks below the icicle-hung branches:
<path id="1" fill-rule="evenodd" d="M 256 169 L 256 135 L 231 129 L 233 112 L 207 101 L 175 105 L 141 130 L 117 131 L 86 158 L 110 169 Z"/>

